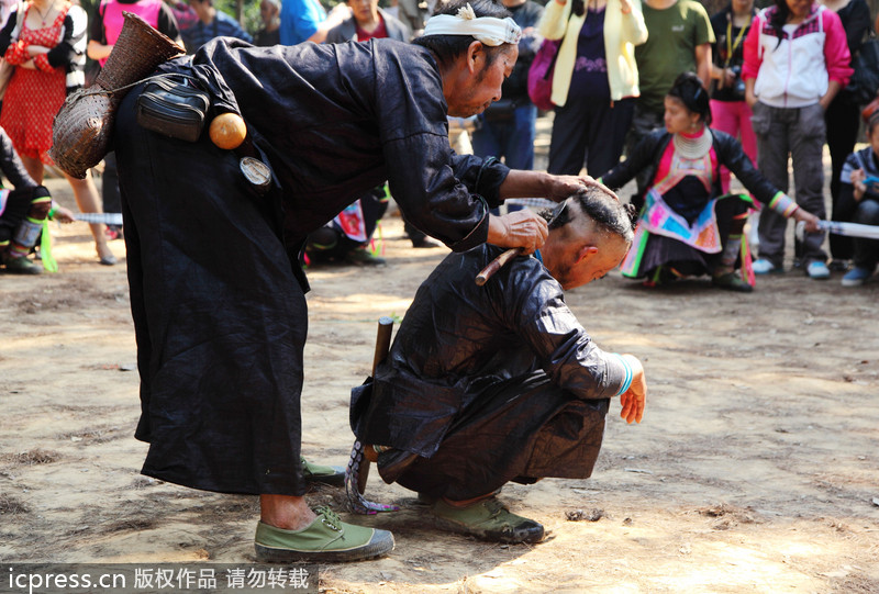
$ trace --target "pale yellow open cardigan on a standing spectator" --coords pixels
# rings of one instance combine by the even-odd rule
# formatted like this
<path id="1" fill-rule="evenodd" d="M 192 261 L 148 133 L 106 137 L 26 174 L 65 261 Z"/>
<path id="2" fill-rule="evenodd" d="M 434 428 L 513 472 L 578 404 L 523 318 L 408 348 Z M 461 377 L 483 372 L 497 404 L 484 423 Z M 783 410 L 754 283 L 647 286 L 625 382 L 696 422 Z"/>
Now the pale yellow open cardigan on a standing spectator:
<path id="1" fill-rule="evenodd" d="M 630 0 L 630 3 L 632 12 L 628 14 L 623 14 L 620 0 L 608 0 L 604 9 L 604 54 L 611 101 L 641 94 L 635 46 L 647 41 L 647 25 L 644 24 L 641 0 Z M 538 25 L 541 35 L 547 40 L 564 37 L 553 74 L 552 99 L 558 107 L 565 105 L 568 100 L 574 63 L 577 59 L 577 41 L 588 14 L 588 11 L 582 16 L 571 14 L 570 4 L 570 0 L 549 0 Z"/>

